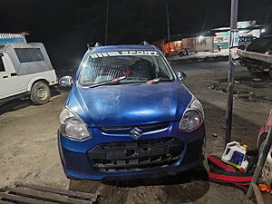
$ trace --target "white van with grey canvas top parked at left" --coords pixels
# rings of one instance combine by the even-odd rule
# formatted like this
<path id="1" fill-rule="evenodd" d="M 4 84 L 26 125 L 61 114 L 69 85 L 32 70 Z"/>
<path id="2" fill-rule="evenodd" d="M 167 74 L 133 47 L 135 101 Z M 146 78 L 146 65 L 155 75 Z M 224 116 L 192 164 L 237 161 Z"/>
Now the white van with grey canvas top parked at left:
<path id="1" fill-rule="evenodd" d="M 44 44 L 0 44 L 0 104 L 25 95 L 44 104 L 54 84 L 57 77 Z"/>

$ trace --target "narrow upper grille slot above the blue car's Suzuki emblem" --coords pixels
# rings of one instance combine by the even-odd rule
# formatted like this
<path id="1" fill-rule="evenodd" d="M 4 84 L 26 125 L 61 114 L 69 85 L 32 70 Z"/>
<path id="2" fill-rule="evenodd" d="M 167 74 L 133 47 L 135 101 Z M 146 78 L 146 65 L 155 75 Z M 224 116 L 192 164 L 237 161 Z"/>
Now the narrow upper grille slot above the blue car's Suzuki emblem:
<path id="1" fill-rule="evenodd" d="M 169 126 L 169 122 L 160 122 L 160 123 L 137 125 L 137 126 L 102 127 L 101 131 L 105 133 L 112 133 L 112 134 L 129 134 L 130 131 L 135 127 L 140 128 L 143 132 L 148 132 L 148 131 L 158 131 L 161 129 L 165 129 L 168 126 Z"/>

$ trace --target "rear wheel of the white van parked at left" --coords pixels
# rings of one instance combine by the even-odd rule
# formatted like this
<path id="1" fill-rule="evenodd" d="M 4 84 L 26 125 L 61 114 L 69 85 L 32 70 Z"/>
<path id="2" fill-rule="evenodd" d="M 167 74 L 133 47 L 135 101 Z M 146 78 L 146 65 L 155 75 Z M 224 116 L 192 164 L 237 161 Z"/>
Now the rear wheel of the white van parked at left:
<path id="1" fill-rule="evenodd" d="M 30 100 L 34 104 L 36 105 L 44 104 L 45 102 L 49 102 L 50 98 L 51 91 L 46 83 L 43 82 L 34 83 L 30 94 Z"/>

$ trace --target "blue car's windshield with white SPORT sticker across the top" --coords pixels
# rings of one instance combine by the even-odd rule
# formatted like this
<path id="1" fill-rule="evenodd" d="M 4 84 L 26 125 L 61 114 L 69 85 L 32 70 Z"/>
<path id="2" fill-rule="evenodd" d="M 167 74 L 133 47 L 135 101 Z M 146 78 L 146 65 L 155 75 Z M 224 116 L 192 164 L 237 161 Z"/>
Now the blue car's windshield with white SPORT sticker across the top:
<path id="1" fill-rule="evenodd" d="M 121 51 L 91 53 L 83 62 L 79 83 L 83 86 L 118 83 L 170 82 L 173 75 L 160 53 L 155 51 Z M 109 83 L 116 84 L 116 83 Z"/>

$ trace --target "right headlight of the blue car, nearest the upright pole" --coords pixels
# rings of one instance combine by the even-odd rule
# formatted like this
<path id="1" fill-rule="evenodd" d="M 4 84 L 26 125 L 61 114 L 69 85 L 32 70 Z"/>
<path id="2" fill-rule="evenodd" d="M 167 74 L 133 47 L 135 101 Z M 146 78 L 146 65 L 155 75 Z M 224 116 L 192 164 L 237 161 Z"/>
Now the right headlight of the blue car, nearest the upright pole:
<path id="1" fill-rule="evenodd" d="M 181 131 L 194 131 L 203 123 L 204 112 L 201 103 L 193 98 L 180 120 Z"/>

